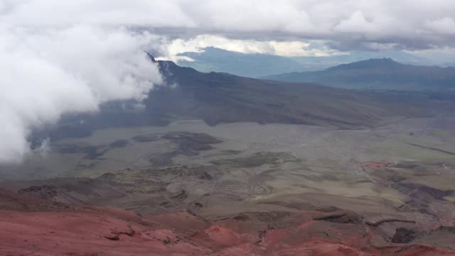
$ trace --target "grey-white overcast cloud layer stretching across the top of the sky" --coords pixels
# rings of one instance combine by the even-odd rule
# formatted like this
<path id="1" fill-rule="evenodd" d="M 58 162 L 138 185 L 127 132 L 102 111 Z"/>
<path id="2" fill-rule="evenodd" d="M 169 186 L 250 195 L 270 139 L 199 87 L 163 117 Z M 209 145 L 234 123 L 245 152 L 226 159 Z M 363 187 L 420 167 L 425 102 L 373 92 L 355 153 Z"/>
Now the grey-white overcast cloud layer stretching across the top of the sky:
<path id="1" fill-rule="evenodd" d="M 455 44 L 451 0 L 0 0 L 16 26 L 97 23 L 172 35 L 333 41 L 333 47 L 423 49 Z"/>

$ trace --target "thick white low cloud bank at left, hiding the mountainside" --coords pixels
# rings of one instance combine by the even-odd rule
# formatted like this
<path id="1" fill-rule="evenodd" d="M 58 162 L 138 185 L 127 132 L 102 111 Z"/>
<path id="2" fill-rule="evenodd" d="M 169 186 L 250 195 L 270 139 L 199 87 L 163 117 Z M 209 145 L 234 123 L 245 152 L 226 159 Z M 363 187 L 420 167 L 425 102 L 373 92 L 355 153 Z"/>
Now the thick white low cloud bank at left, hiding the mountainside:
<path id="1" fill-rule="evenodd" d="M 20 161 L 34 127 L 109 100 L 141 100 L 161 82 L 148 34 L 95 26 L 1 28 L 0 163 Z"/>

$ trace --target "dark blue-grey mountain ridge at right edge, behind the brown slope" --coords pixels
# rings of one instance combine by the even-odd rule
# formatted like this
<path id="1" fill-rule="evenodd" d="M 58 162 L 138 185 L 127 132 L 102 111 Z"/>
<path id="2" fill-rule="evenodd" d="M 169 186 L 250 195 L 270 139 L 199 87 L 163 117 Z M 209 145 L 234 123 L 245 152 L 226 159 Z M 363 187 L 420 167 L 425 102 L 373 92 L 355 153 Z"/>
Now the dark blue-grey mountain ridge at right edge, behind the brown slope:
<path id="1" fill-rule="evenodd" d="M 455 68 L 407 65 L 391 58 L 362 60 L 321 71 L 291 72 L 264 78 L 287 82 L 318 82 L 361 90 L 455 90 Z"/>

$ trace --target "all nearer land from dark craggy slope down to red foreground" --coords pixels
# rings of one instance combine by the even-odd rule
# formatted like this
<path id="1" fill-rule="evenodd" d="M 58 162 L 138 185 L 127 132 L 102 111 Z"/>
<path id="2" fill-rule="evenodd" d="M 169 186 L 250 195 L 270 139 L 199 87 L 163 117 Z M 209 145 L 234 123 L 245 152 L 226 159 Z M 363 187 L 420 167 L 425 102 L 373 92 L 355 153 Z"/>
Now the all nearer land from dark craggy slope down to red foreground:
<path id="1" fill-rule="evenodd" d="M 2 166 L 1 255 L 455 250 L 449 103 L 149 57 L 165 82 L 141 107 L 66 117 L 49 151 Z"/>

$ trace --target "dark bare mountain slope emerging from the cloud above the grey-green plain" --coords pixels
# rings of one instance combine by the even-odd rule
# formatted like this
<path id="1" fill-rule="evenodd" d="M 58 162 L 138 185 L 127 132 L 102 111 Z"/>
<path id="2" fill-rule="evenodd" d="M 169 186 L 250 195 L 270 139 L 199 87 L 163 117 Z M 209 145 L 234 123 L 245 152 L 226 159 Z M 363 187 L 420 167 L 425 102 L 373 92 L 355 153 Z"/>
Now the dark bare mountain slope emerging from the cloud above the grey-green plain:
<path id="1" fill-rule="evenodd" d="M 135 102 L 109 102 L 97 114 L 65 116 L 55 127 L 36 131 L 30 138 L 32 145 L 39 146 L 47 137 L 52 140 L 85 137 L 95 129 L 161 126 L 183 119 L 202 119 L 210 125 L 258 122 L 358 129 L 382 124 L 387 117 L 427 117 L 446 109 L 440 102 L 435 104 L 432 95 L 422 93 L 365 92 L 228 73 L 201 73 L 171 61 L 150 58 L 159 66 L 166 86 L 151 91 L 139 109 L 134 107 Z M 375 67 L 380 63 L 401 66 L 387 59 L 370 60 L 365 65 Z M 357 72 L 356 65 L 365 67 L 355 63 L 324 72 Z M 357 77 L 357 73 L 353 74 Z"/>

